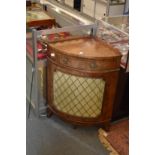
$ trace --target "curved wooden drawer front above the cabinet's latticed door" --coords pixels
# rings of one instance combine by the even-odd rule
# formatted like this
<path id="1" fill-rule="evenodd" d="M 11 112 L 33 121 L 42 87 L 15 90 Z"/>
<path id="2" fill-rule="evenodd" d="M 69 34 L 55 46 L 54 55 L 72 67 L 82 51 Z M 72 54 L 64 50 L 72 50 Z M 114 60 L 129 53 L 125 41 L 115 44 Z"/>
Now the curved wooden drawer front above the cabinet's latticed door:
<path id="1" fill-rule="evenodd" d="M 120 64 L 117 59 L 92 60 L 68 55 L 58 54 L 57 52 L 48 52 L 48 57 L 53 63 L 86 71 L 103 71 L 108 69 L 117 69 Z"/>

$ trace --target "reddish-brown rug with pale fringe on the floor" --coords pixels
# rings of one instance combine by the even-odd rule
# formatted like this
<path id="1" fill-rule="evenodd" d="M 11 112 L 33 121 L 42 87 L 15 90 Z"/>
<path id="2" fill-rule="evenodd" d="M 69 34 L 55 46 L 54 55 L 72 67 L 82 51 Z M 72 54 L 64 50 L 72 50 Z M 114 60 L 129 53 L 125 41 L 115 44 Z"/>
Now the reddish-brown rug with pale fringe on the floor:
<path id="1" fill-rule="evenodd" d="M 129 155 L 129 120 L 112 124 L 109 132 L 100 128 L 98 134 L 110 155 Z"/>

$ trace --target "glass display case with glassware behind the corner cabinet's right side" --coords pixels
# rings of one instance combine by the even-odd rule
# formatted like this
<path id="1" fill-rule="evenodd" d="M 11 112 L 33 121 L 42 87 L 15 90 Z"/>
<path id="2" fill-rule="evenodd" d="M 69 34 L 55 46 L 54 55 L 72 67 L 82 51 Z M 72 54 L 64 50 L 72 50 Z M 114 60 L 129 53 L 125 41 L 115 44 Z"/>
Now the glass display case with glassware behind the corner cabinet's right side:
<path id="1" fill-rule="evenodd" d="M 97 36 L 119 49 L 121 67 L 128 71 L 129 16 L 105 17 L 98 21 Z"/>

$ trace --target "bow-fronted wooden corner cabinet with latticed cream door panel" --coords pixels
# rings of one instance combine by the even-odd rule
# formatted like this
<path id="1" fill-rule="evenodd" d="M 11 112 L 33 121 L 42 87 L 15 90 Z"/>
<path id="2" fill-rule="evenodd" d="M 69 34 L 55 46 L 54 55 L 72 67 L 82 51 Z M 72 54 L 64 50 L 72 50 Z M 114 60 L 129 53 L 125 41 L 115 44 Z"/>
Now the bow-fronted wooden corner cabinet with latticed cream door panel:
<path id="1" fill-rule="evenodd" d="M 121 54 L 95 37 L 48 44 L 48 116 L 108 130 Z"/>

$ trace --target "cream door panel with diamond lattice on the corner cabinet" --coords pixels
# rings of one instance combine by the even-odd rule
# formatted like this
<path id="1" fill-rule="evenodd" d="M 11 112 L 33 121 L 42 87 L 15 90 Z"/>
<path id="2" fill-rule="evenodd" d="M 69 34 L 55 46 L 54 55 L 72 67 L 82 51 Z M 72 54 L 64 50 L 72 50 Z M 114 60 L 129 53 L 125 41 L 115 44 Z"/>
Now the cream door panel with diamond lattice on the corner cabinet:
<path id="1" fill-rule="evenodd" d="M 54 105 L 73 116 L 93 118 L 101 114 L 105 88 L 103 79 L 54 72 Z"/>

